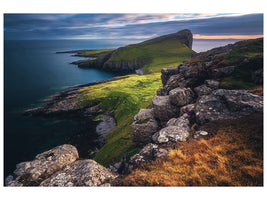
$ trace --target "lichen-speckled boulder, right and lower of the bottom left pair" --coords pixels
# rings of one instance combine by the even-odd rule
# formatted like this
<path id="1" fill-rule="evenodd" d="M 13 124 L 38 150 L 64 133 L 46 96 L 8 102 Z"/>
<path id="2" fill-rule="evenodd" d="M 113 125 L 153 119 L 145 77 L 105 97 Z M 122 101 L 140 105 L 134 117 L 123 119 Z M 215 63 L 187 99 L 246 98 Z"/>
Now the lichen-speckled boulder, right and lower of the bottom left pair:
<path id="1" fill-rule="evenodd" d="M 77 160 L 44 180 L 40 186 L 101 186 L 116 177 L 94 160 Z"/>

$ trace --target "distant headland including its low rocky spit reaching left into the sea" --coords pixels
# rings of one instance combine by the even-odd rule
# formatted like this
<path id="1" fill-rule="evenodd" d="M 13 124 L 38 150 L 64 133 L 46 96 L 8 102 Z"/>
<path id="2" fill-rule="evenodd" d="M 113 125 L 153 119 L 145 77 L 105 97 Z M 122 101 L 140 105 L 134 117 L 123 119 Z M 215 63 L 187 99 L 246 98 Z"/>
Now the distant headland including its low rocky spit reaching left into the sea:
<path id="1" fill-rule="evenodd" d="M 131 44 L 125 47 L 120 47 L 115 50 L 103 50 L 100 53 L 85 54 L 82 51 L 68 51 L 65 53 L 76 53 L 75 56 L 94 57 L 93 59 L 79 60 L 73 62 L 82 68 L 97 68 L 105 71 L 113 72 L 135 72 L 154 65 L 154 59 L 163 58 L 166 56 L 174 57 L 181 56 L 179 48 L 192 54 L 193 37 L 190 30 L 182 30 L 177 33 L 160 36 L 138 44 Z M 169 45 L 171 43 L 171 45 Z M 165 46 L 169 46 L 165 48 Z M 177 50 L 173 53 L 174 49 Z M 62 52 L 61 52 L 62 53 Z M 180 55 L 179 55 L 180 54 Z"/>

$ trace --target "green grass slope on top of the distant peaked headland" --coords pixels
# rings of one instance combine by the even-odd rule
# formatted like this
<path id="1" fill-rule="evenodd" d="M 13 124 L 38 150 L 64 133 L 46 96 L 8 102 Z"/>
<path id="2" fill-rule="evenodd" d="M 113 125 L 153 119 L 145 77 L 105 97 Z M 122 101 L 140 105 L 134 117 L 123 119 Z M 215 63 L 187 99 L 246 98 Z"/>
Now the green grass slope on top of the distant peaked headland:
<path id="1" fill-rule="evenodd" d="M 160 72 L 162 68 L 177 66 L 195 53 L 185 43 L 185 31 L 164 35 L 115 51 L 108 62 L 143 61 L 144 74 Z"/>

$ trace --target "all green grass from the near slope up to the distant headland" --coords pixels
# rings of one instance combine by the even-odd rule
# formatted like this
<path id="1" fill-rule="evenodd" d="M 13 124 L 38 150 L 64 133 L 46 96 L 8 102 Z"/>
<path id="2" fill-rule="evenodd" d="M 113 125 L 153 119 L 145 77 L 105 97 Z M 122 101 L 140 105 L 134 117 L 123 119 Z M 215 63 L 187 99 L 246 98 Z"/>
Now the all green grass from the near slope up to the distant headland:
<path id="1" fill-rule="evenodd" d="M 123 155 L 130 156 L 138 151 L 138 149 L 133 149 L 130 139 L 133 117 L 141 108 L 151 105 L 157 89 L 162 87 L 160 70 L 164 67 L 177 66 L 194 53 L 188 47 L 191 47 L 190 41 L 192 42 L 190 34 L 188 30 L 180 31 L 128 45 L 115 51 L 105 49 L 98 52 L 97 50 L 80 51 L 80 54 L 87 56 L 100 53 L 100 56 L 94 59 L 95 63 L 101 63 L 99 60 L 104 57 L 107 59 L 107 54 L 111 55 L 105 61 L 111 63 L 124 62 L 127 65 L 129 62 L 142 60 L 144 65 L 140 67 L 146 74 L 143 76 L 128 75 L 120 80 L 81 89 L 79 103 L 82 106 L 97 105 L 103 110 L 112 111 L 117 123 L 108 135 L 106 144 L 94 158 L 97 162 L 107 166 L 120 161 Z M 188 35 L 189 39 L 186 38 Z M 104 65 L 104 63 L 101 64 Z"/>

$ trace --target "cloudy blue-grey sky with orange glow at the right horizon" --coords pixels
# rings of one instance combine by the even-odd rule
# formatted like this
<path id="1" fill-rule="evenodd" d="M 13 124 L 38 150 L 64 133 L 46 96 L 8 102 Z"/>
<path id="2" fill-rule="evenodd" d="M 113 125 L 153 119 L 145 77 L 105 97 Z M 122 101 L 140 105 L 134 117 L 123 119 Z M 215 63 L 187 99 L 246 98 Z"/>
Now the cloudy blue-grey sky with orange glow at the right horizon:
<path id="1" fill-rule="evenodd" d="M 195 39 L 263 36 L 263 14 L 4 14 L 5 40 L 140 39 L 189 29 Z"/>

